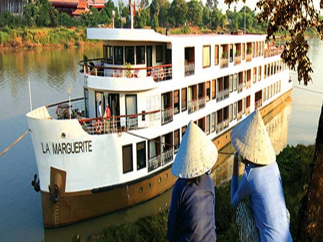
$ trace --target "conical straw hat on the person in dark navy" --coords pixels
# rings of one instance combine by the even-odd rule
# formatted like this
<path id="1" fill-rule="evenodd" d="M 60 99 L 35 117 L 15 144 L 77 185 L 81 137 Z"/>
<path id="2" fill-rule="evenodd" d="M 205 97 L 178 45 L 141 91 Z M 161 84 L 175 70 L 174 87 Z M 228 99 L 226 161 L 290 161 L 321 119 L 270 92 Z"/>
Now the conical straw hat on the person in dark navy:
<path id="1" fill-rule="evenodd" d="M 173 163 L 172 173 L 180 178 L 193 178 L 210 170 L 217 159 L 217 147 L 190 121 Z"/>

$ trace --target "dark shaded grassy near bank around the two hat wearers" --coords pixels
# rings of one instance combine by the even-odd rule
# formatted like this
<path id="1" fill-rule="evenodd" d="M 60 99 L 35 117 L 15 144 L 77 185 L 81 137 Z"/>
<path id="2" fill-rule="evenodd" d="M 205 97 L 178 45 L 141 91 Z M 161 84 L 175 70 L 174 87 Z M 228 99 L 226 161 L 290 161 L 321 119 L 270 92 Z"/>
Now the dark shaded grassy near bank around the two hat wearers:
<path id="1" fill-rule="evenodd" d="M 278 156 L 286 206 L 291 214 L 290 230 L 296 239 L 298 209 L 300 200 L 306 193 L 311 171 L 314 147 L 287 146 Z M 230 203 L 230 184 L 216 189 L 217 241 L 239 241 L 235 226 L 235 213 Z M 102 233 L 92 235 L 89 241 L 167 241 L 168 210 L 157 215 L 142 218 L 121 226 L 112 226 Z M 79 241 L 77 237 L 72 239 Z"/>

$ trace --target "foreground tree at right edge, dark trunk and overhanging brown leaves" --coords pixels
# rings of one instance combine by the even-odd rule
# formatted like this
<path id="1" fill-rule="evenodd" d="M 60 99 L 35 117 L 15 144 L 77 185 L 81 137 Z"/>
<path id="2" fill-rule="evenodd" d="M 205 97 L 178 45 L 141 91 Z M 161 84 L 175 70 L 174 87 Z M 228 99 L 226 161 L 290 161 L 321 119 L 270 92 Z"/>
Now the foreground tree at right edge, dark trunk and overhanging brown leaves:
<path id="1" fill-rule="evenodd" d="M 237 0 L 225 0 L 226 4 Z M 270 1 L 258 0 L 257 8 L 260 10 L 259 21 L 267 26 L 267 40 L 275 39 L 281 31 L 286 38 L 285 50 L 282 58 L 291 70 L 297 67 L 298 81 L 306 86 L 311 81 L 313 72 L 311 62 L 307 56 L 308 43 L 304 33 L 308 28 L 316 29 L 317 36 L 323 39 L 323 20 L 319 18 L 312 1 Z M 323 1 L 320 0 L 320 9 Z M 315 140 L 315 151 L 312 163 L 311 178 L 305 197 L 302 199 L 299 210 L 298 240 L 320 241 L 323 237 L 323 104 L 318 121 Z"/>

